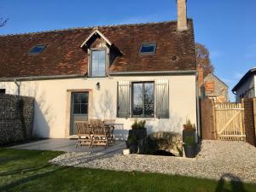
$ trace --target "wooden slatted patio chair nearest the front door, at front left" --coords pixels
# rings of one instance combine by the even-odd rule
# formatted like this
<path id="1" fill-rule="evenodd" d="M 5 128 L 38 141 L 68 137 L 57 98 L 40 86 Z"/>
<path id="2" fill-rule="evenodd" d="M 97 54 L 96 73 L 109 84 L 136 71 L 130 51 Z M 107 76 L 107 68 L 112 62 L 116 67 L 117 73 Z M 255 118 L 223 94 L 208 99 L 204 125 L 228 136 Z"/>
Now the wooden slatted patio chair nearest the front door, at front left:
<path id="1" fill-rule="evenodd" d="M 91 138 L 91 130 L 88 122 L 85 121 L 76 121 L 75 122 L 77 133 L 79 140 L 76 144 L 76 148 L 80 145 L 88 145 L 91 146 L 92 138 Z"/>

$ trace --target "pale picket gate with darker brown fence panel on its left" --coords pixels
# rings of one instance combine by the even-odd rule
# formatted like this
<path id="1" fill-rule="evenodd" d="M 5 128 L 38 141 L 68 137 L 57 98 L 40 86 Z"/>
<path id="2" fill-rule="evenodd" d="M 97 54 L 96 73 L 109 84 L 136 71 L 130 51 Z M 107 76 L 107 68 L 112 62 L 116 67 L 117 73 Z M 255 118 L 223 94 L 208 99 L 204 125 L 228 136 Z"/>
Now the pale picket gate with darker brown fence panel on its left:
<path id="1" fill-rule="evenodd" d="M 244 141 L 244 108 L 241 103 L 201 101 L 203 139 Z"/>

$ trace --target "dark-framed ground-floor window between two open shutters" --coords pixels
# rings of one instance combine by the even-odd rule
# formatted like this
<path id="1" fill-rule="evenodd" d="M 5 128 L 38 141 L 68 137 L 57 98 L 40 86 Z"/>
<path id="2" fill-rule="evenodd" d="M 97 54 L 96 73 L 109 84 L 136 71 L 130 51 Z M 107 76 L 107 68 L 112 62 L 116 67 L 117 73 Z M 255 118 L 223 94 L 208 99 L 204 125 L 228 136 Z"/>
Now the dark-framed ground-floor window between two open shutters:
<path id="1" fill-rule="evenodd" d="M 154 83 L 132 84 L 132 116 L 154 117 Z"/>

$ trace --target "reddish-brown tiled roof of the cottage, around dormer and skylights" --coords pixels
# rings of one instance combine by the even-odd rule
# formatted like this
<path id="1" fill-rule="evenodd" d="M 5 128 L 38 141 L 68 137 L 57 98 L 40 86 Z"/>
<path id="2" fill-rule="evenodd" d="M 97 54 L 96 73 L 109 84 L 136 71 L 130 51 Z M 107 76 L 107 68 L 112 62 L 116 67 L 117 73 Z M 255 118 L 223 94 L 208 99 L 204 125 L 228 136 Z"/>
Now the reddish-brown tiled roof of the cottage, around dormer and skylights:
<path id="1" fill-rule="evenodd" d="M 0 36 L 0 78 L 87 73 L 87 52 L 80 45 L 94 27 L 53 32 Z M 123 55 L 113 61 L 110 72 L 195 70 L 195 39 L 192 20 L 189 30 L 177 32 L 177 21 L 99 26 Z M 156 42 L 154 55 L 139 55 L 143 42 Z M 41 54 L 27 55 L 34 45 L 47 44 Z M 176 55 L 177 60 L 172 61 Z"/>

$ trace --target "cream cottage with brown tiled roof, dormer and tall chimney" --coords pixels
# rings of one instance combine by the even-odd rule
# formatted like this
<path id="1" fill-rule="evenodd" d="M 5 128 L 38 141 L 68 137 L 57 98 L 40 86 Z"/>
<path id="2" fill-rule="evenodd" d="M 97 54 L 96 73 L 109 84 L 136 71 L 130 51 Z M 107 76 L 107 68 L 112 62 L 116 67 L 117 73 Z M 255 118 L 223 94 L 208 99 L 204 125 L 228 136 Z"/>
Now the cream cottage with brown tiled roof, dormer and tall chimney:
<path id="1" fill-rule="evenodd" d="M 73 137 L 74 122 L 135 119 L 148 132 L 197 123 L 195 38 L 186 1 L 177 20 L 0 36 L 0 89 L 35 97 L 33 134 Z"/>

